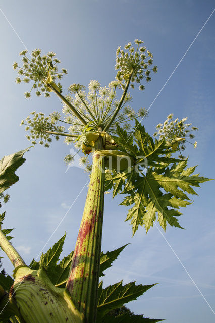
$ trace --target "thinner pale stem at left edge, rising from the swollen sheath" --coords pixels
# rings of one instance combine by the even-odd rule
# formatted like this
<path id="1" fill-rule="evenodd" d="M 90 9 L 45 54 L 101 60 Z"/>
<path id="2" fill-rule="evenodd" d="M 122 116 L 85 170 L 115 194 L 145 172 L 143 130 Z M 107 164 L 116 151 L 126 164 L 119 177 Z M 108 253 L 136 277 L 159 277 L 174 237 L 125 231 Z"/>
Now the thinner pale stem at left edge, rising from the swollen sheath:
<path id="1" fill-rule="evenodd" d="M 18 266 L 26 266 L 22 257 L 8 241 L 2 230 L 0 230 L 0 246 L 2 247 L 3 251 L 5 251 L 15 268 Z"/>

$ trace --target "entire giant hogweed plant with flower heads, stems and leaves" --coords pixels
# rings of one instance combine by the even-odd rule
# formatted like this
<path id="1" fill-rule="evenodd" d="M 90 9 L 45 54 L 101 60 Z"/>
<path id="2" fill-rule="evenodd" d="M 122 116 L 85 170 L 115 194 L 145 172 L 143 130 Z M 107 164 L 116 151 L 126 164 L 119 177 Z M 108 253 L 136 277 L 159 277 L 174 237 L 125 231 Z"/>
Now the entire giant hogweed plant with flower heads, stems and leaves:
<path id="1" fill-rule="evenodd" d="M 1 315 L 11 322 L 159 321 L 142 315 L 132 320 L 124 314 L 108 315 L 110 310 L 136 299 L 152 285 L 136 286 L 133 282 L 123 286 L 119 282 L 103 289 L 102 282 L 99 283 L 99 275 L 104 275 L 103 271 L 124 248 L 101 253 L 104 192 L 113 189 L 113 197 L 126 195 L 121 204 L 132 206 L 126 220 L 131 220 L 134 234 L 139 225 L 144 225 L 147 232 L 156 217 L 164 230 L 167 223 L 181 228 L 179 207 L 191 203 L 187 194 L 196 194 L 192 186 L 199 186 L 208 179 L 193 175 L 195 167 L 186 168 L 187 159 L 181 154 L 187 137 L 193 139 L 192 131 L 197 130 L 196 127 L 190 128 L 185 119 L 173 121 L 170 115 L 164 125 L 157 126 L 155 136 L 159 134 L 160 138 L 154 141 L 137 121 L 138 117 L 142 120 L 146 116 L 146 110 L 135 113 L 128 105 L 132 100 L 129 87 L 134 88 L 138 83 L 143 90 L 142 81 L 149 82 L 151 71 L 157 71 L 156 66 L 152 67 L 153 56 L 142 46 L 143 42 L 135 40 L 135 43 L 136 49 L 131 43 L 117 49 L 116 79 L 106 87 L 101 87 L 98 81 L 90 81 L 87 94 L 83 85 L 72 84 L 69 93 L 62 95 L 62 86 L 56 80 L 67 70 L 58 72 L 60 61 L 53 52 L 42 56 L 41 50 L 36 49 L 29 59 L 25 50 L 20 53 L 23 66 L 14 63 L 19 73 L 16 82 L 33 84 L 25 93 L 26 98 L 35 89 L 37 96 L 43 92 L 49 97 L 53 92 L 63 103 L 63 118 L 59 112 L 50 116 L 32 112 L 31 117 L 23 120 L 21 124 L 26 125 L 27 139 L 33 145 L 38 142 L 45 147 L 49 147 L 53 137 L 59 140 L 63 136 L 67 144 L 74 143 L 78 152 L 84 154 L 81 161 L 90 172 L 90 183 L 74 252 L 60 262 L 65 236 L 42 254 L 39 262 L 33 259 L 27 266 L 9 242 L 11 229 L 1 231 L 0 245 L 15 267 L 14 280 L 1 276 Z M 117 99 L 119 91 L 122 94 Z M 129 122 L 134 119 L 132 129 Z M 2 159 L 0 193 L 17 181 L 14 172 L 23 163 L 25 151 Z M 177 151 L 182 160 L 173 156 Z M 92 165 L 87 164 L 89 155 L 92 155 Z M 66 163 L 72 163 L 73 157 L 67 155 Z M 8 175 L 13 179 L 11 182 Z M 10 314 L 7 316 L 7 313 Z"/>

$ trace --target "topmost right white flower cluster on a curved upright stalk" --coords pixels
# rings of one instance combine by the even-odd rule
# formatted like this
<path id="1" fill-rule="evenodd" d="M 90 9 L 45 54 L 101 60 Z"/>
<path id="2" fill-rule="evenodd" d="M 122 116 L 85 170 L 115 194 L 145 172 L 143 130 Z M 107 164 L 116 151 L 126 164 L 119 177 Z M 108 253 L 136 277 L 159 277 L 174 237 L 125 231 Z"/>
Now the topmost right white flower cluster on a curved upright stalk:
<path id="1" fill-rule="evenodd" d="M 150 68 L 153 63 L 153 55 L 146 47 L 140 46 L 142 40 L 135 40 L 137 49 L 135 51 L 131 42 L 125 45 L 124 50 L 121 46 L 117 48 L 116 66 L 119 70 L 116 79 L 121 82 L 121 86 L 125 88 L 125 81 L 131 80 L 131 87 L 134 88 L 134 82 L 140 84 L 139 89 L 144 90 L 145 86 L 141 84 L 143 78 L 146 82 L 151 81 L 151 71 L 157 72 L 157 66 Z"/>

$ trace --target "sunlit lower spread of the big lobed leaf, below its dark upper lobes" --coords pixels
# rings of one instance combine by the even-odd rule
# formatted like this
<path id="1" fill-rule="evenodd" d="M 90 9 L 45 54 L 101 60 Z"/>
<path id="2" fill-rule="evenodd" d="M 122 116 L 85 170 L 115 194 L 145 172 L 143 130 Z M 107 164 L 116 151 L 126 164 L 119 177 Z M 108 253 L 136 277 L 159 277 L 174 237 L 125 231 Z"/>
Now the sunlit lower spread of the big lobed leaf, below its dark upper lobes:
<path id="1" fill-rule="evenodd" d="M 123 193 L 128 194 L 121 205 L 134 206 L 128 211 L 127 220 L 131 220 L 133 235 L 139 225 L 145 226 L 146 232 L 153 226 L 156 214 L 160 226 L 166 230 L 167 222 L 174 227 L 182 228 L 176 217 L 180 216 L 177 209 L 191 204 L 185 194 L 196 194 L 191 186 L 209 179 L 192 175 L 195 167 L 185 169 L 187 161 L 173 164 L 164 169 L 163 174 L 150 168 L 146 175 L 138 174 Z M 164 192 L 163 189 L 166 191 Z"/>

